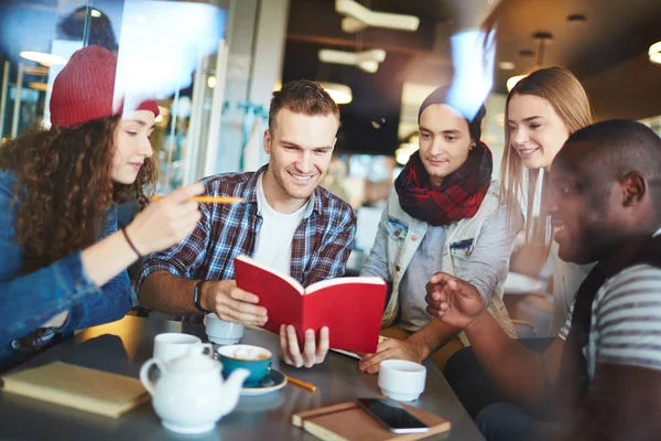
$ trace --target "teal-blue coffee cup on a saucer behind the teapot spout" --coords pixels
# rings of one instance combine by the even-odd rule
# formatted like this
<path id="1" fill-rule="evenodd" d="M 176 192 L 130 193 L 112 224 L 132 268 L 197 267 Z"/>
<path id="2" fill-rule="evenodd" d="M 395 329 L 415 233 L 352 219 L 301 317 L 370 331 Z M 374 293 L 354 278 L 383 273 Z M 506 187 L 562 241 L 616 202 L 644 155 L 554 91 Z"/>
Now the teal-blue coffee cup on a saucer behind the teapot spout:
<path id="1" fill-rule="evenodd" d="M 271 368 L 271 351 L 251 345 L 230 345 L 218 348 L 218 359 L 223 364 L 223 376 L 228 377 L 235 369 L 248 369 L 250 375 L 243 386 L 257 386 Z"/>

